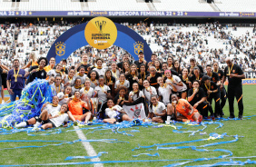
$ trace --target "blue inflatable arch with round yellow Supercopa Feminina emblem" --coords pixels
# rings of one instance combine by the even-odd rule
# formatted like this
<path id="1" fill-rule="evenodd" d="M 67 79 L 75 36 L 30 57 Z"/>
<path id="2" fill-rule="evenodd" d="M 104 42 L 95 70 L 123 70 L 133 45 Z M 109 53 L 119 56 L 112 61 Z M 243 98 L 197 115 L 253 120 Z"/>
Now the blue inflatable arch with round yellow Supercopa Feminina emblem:
<path id="1" fill-rule="evenodd" d="M 95 17 L 88 23 L 76 25 L 62 34 L 51 46 L 47 59 L 56 59 L 56 63 L 68 56 L 77 49 L 86 45 L 96 49 L 106 49 L 112 45 L 122 47 L 135 60 L 138 54 L 143 52 L 144 59 L 151 61 L 152 50 L 140 34 L 127 26 L 113 23 L 106 17 Z"/>

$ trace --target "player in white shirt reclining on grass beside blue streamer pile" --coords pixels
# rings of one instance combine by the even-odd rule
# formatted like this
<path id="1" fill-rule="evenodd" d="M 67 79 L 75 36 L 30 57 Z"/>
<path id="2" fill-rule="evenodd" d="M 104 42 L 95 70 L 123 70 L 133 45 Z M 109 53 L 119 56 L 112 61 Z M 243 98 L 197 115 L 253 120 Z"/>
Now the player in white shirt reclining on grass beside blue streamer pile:
<path id="1" fill-rule="evenodd" d="M 48 113 L 47 110 L 44 110 L 40 114 L 39 118 L 31 118 L 26 122 L 16 124 L 15 127 L 21 128 L 29 124 L 34 124 L 34 130 L 37 130 L 37 127 L 40 123 L 43 124 L 41 129 L 59 127 L 60 125 L 62 125 L 62 123 L 64 123 L 64 127 L 66 127 L 68 122 L 68 114 L 66 112 L 67 104 L 64 103 L 62 104 L 59 111 L 53 111 L 52 113 Z"/>

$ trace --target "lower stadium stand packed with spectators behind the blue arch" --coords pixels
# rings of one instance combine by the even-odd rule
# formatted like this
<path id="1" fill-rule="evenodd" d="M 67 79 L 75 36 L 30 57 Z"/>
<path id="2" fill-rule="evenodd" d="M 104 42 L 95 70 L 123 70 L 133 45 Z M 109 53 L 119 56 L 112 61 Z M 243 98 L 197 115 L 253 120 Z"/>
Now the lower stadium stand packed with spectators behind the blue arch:
<path id="1" fill-rule="evenodd" d="M 232 27 L 226 29 L 221 25 L 198 25 L 198 26 L 159 26 L 145 24 L 129 25 L 138 34 L 141 34 L 150 45 L 154 53 L 163 60 L 166 56 L 173 55 L 175 59 L 182 58 L 182 66 L 187 66 L 191 57 L 196 57 L 202 64 L 212 64 L 218 60 L 221 67 L 227 56 L 236 59 L 243 69 L 251 69 L 254 61 L 251 55 L 255 54 L 255 36 L 251 27 L 238 27 L 236 31 Z M 54 40 L 73 25 L 53 25 L 40 22 L 37 25 L 1 25 L 0 56 L 3 62 L 11 65 L 12 58 L 19 58 L 23 64 L 28 61 L 30 53 L 34 52 L 37 57 L 46 56 Z M 226 35 L 223 35 L 224 32 Z M 235 47 L 235 45 L 237 47 Z M 80 61 L 83 52 L 98 54 L 107 60 L 109 54 L 116 54 L 118 59 L 125 52 L 123 49 L 112 46 L 103 51 L 96 49 L 80 48 L 68 59 L 69 65 Z M 250 61 L 248 61 L 250 60 Z M 252 70 L 252 69 L 251 69 Z"/>

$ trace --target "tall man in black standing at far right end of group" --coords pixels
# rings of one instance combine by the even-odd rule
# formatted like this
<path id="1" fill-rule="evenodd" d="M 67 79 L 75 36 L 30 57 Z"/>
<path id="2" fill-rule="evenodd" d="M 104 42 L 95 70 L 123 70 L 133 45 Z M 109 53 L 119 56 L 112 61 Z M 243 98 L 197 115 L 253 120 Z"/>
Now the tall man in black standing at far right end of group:
<path id="1" fill-rule="evenodd" d="M 225 83 L 226 77 L 228 77 L 228 98 L 230 107 L 230 118 L 234 118 L 234 97 L 236 97 L 238 108 L 239 108 L 239 118 L 242 119 L 243 113 L 243 103 L 242 103 L 242 85 L 241 79 L 245 78 L 241 67 L 238 64 L 233 64 L 231 58 L 226 59 L 226 64 L 228 66 L 224 69 L 224 77 L 222 83 Z M 223 85 L 221 85 L 222 88 Z"/>

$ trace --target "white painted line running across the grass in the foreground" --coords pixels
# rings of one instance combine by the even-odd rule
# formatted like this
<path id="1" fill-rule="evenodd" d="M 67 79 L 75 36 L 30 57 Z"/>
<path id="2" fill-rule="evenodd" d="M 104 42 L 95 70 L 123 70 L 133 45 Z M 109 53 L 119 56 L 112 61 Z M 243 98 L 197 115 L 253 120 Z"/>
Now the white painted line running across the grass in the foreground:
<path id="1" fill-rule="evenodd" d="M 77 133 L 79 139 L 81 140 L 87 140 L 86 137 L 84 136 L 84 133 L 81 130 L 78 130 L 78 126 L 74 126 L 74 129 L 76 130 L 75 132 Z M 82 142 L 82 144 L 84 145 L 84 149 L 86 150 L 86 152 L 88 153 L 88 156 L 96 156 L 97 153 L 94 151 L 93 146 L 90 144 L 90 142 Z M 100 158 L 93 158 L 91 159 L 92 162 L 100 162 L 101 159 Z M 103 167 L 102 163 L 95 163 L 94 167 Z"/>

